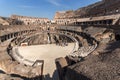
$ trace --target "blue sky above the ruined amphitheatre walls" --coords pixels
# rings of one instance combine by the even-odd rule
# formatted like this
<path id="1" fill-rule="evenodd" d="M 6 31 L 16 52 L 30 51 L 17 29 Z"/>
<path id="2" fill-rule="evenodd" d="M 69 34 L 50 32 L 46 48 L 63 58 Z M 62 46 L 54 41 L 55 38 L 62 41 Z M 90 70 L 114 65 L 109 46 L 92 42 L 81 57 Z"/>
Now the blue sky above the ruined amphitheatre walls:
<path id="1" fill-rule="evenodd" d="M 100 0 L 0 0 L 0 16 L 12 14 L 53 19 L 55 12 L 77 10 Z"/>

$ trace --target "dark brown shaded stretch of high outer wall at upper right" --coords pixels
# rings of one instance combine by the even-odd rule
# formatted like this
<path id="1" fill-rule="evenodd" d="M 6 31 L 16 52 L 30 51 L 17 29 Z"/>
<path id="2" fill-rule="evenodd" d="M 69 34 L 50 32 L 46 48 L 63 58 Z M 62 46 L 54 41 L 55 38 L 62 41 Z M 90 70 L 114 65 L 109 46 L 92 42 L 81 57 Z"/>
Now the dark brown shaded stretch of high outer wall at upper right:
<path id="1" fill-rule="evenodd" d="M 76 17 L 92 17 L 120 13 L 120 0 L 105 0 L 75 11 Z"/>

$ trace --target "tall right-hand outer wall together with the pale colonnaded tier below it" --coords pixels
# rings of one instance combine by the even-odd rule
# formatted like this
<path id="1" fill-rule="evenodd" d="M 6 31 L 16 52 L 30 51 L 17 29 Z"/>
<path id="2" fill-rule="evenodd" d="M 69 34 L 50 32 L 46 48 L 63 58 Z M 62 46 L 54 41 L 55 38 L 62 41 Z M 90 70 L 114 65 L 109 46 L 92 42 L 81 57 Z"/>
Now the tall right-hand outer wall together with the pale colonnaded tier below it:
<path id="1" fill-rule="evenodd" d="M 103 0 L 75 11 L 56 12 L 54 21 L 60 25 L 120 24 L 120 0 Z"/>

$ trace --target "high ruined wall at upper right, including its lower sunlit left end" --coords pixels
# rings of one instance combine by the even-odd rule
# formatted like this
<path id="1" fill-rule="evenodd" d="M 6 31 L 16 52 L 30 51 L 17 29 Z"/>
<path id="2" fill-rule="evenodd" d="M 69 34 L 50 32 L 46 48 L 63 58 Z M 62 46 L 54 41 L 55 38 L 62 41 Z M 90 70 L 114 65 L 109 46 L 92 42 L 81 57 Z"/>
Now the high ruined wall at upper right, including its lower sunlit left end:
<path id="1" fill-rule="evenodd" d="M 56 12 L 55 18 L 85 18 L 120 13 L 120 0 L 103 0 L 67 13 Z"/>

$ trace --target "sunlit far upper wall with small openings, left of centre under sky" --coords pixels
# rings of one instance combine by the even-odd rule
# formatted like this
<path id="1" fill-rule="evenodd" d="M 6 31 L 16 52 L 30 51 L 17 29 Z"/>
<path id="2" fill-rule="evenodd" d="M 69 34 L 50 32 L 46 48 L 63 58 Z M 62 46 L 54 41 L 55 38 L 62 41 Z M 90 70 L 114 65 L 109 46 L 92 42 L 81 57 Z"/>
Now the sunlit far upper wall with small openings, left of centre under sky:
<path id="1" fill-rule="evenodd" d="M 48 18 L 27 17 L 19 15 L 12 15 L 11 18 L 17 19 L 18 21 L 23 21 L 25 25 L 41 25 L 50 21 Z"/>

